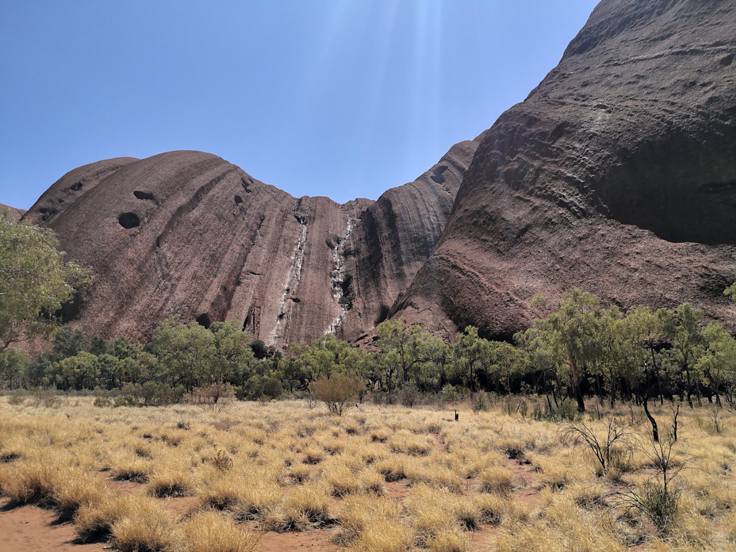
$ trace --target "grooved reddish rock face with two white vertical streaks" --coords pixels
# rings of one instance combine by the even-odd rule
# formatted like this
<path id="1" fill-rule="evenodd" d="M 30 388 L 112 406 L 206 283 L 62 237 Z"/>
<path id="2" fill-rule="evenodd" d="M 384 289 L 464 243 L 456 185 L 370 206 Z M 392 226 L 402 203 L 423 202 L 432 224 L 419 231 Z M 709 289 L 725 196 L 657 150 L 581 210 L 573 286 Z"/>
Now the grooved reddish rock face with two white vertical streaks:
<path id="1" fill-rule="evenodd" d="M 24 220 L 56 231 L 95 281 L 66 311 L 88 333 L 145 339 L 166 316 L 236 320 L 283 347 L 386 316 L 439 241 L 478 141 L 377 202 L 294 198 L 222 158 L 169 152 L 74 169 Z"/>

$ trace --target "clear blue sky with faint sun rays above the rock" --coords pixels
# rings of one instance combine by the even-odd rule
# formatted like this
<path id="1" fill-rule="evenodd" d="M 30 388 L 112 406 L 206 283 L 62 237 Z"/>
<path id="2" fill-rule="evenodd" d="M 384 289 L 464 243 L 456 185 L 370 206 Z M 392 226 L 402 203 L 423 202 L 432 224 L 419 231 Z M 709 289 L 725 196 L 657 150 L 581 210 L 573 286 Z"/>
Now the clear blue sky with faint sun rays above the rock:
<path id="1" fill-rule="evenodd" d="M 0 203 L 172 149 L 375 199 L 522 101 L 595 4 L 0 0 Z"/>

